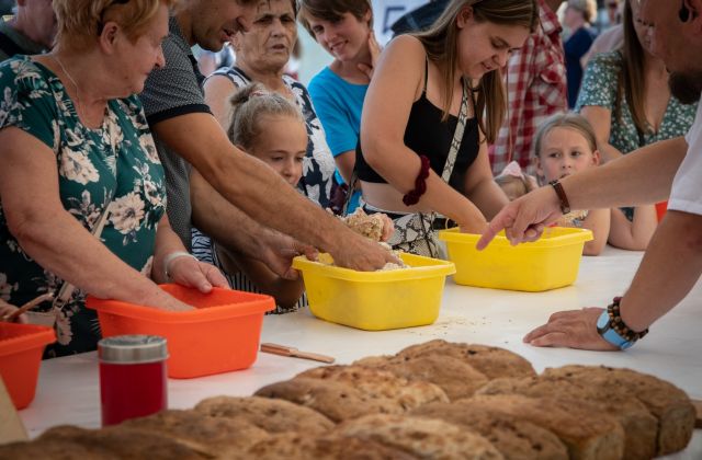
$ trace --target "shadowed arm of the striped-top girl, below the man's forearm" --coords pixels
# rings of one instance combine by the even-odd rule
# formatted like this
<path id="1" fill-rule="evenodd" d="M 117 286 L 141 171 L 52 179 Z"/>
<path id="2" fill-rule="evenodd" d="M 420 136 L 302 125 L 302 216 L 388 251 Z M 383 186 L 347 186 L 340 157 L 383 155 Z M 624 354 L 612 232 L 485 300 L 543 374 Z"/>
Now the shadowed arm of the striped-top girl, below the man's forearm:
<path id="1" fill-rule="evenodd" d="M 218 249 L 218 256 L 224 262 L 228 258 L 227 268 L 239 268 L 263 294 L 273 296 L 275 303 L 284 309 L 292 308 L 305 290 L 303 278 L 285 279 L 271 271 L 268 265 L 240 254 L 234 256 L 230 252 Z M 223 257 L 224 255 L 224 257 Z M 236 261 L 236 262 L 235 262 Z"/>

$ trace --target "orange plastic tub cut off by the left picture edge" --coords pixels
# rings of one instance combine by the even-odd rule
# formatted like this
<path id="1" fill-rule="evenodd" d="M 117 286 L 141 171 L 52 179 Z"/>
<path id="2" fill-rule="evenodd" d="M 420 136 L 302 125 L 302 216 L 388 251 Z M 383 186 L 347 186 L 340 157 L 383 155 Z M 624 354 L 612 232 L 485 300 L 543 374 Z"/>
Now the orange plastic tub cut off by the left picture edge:
<path id="1" fill-rule="evenodd" d="M 44 347 L 55 341 L 52 327 L 0 322 L 0 376 L 16 409 L 34 400 Z"/>

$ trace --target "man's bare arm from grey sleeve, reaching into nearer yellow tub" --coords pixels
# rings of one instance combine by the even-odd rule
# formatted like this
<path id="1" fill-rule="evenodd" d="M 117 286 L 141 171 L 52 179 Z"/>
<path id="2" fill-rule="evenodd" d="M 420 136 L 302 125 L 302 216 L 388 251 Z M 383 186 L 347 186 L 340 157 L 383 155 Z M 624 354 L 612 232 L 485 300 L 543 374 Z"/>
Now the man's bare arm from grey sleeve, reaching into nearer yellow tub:
<path id="1" fill-rule="evenodd" d="M 341 266 L 367 271 L 393 260 L 297 194 L 260 160 L 233 146 L 212 115 L 180 115 L 151 128 L 219 194 L 256 221 L 330 252 Z"/>

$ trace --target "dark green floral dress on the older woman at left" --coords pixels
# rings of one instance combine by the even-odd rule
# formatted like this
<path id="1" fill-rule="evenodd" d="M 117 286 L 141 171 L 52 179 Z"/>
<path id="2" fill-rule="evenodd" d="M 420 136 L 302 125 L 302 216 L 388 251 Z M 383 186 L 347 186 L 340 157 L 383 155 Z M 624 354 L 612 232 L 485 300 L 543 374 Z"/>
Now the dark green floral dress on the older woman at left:
<path id="1" fill-rule="evenodd" d="M 18 127 L 54 152 L 64 208 L 87 230 L 110 205 L 102 242 L 149 274 L 158 222 L 166 211 L 166 185 L 139 100 L 109 101 L 102 126 L 90 129 L 56 74 L 30 57 L 0 65 L 0 129 Z M 24 252 L 10 233 L 0 202 L 0 298 L 22 304 L 63 283 Z M 77 290 L 58 314 L 58 341 L 47 347 L 46 357 L 95 348 L 100 326 L 94 311 L 86 309 L 84 296 Z M 50 307 L 44 303 L 37 310 Z"/>

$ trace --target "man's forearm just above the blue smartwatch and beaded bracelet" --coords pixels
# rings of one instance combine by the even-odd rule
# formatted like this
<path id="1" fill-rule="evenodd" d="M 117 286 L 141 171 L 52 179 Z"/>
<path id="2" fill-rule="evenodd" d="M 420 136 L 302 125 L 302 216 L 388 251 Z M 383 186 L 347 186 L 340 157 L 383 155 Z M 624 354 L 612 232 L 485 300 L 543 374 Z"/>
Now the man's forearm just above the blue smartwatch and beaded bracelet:
<path id="1" fill-rule="evenodd" d="M 702 274 L 702 216 L 668 210 L 629 291 L 622 319 L 643 331 L 690 292 Z"/>

